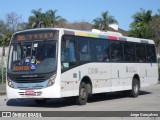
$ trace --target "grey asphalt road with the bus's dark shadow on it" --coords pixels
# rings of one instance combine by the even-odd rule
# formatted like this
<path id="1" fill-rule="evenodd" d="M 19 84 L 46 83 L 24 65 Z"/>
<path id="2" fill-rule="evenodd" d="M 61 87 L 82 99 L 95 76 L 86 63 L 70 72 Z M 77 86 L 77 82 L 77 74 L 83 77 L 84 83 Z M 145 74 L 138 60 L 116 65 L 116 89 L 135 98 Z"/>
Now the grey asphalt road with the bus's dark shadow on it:
<path id="1" fill-rule="evenodd" d="M 160 84 L 141 89 L 137 98 L 125 97 L 119 92 L 94 95 L 84 106 L 75 105 L 71 99 L 50 99 L 45 105 L 37 105 L 30 99 L 7 99 L 4 95 L 0 96 L 0 111 L 160 111 Z M 132 120 L 135 118 L 110 118 L 112 119 Z M 152 120 L 154 118 L 138 119 Z"/>

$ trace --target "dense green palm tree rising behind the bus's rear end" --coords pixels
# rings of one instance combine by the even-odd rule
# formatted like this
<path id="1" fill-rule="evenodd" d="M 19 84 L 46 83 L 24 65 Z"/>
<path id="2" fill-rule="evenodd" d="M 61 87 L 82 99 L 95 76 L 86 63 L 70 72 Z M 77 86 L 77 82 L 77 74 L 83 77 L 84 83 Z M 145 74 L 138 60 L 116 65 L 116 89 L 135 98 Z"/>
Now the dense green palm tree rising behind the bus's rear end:
<path id="1" fill-rule="evenodd" d="M 145 11 L 141 8 L 132 18 L 134 21 L 130 24 L 131 30 L 129 31 L 129 36 L 146 39 L 152 38 L 153 33 L 149 28 L 149 22 L 152 21 L 152 11 Z"/>

